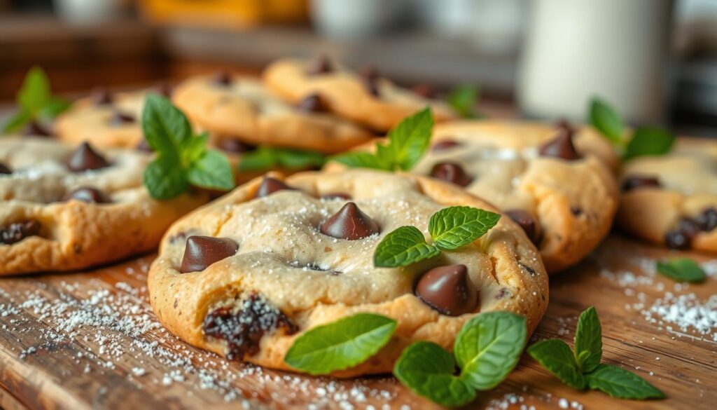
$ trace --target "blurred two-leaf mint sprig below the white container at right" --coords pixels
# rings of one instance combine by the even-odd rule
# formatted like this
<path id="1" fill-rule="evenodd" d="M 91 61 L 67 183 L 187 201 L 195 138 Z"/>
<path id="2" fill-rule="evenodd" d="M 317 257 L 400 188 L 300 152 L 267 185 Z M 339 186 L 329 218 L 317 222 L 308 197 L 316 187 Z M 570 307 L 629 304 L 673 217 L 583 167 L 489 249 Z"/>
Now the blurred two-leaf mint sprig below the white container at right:
<path id="1" fill-rule="evenodd" d="M 625 139 L 625 121 L 617 110 L 600 98 L 592 98 L 588 111 L 590 124 L 622 151 L 623 159 L 664 155 L 675 143 L 675 136 L 670 131 L 655 126 L 638 127 L 632 137 Z"/>

